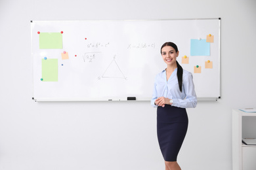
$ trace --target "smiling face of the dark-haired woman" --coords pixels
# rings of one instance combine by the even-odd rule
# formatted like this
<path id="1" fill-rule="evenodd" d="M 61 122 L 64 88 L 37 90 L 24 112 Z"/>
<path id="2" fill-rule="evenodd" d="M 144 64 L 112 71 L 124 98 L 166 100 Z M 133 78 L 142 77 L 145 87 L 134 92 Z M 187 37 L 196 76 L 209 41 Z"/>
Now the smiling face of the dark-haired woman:
<path id="1" fill-rule="evenodd" d="M 179 51 L 175 52 L 175 49 L 172 46 L 164 46 L 161 48 L 161 56 L 167 65 L 172 65 L 173 63 L 176 63 Z"/>

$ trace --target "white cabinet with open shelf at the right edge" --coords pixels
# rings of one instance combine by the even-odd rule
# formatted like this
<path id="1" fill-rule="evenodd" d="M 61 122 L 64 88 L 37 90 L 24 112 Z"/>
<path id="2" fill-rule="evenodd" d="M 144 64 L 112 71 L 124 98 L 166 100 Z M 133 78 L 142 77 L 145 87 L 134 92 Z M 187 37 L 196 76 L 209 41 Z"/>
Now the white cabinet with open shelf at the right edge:
<path id="1" fill-rule="evenodd" d="M 245 124 L 245 120 L 250 120 Z M 252 120 L 255 120 L 252 124 Z M 244 124 L 243 124 L 244 123 Z M 256 112 L 232 110 L 232 165 L 233 170 L 256 169 L 256 145 L 242 143 L 242 138 L 255 138 Z"/>

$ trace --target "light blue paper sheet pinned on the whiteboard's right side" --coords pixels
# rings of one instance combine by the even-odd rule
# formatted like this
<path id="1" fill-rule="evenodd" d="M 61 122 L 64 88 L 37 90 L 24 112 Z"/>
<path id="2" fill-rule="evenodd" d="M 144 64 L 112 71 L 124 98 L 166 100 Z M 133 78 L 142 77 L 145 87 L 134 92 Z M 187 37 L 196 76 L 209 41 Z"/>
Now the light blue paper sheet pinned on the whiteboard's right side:
<path id="1" fill-rule="evenodd" d="M 206 42 L 206 39 L 191 39 L 190 56 L 210 56 L 210 42 Z"/>

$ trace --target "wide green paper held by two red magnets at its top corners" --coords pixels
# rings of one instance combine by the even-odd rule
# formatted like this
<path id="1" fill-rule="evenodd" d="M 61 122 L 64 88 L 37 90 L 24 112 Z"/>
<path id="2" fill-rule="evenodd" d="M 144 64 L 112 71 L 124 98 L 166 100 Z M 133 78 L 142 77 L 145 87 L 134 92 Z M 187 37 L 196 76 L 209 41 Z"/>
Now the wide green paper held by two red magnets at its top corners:
<path id="1" fill-rule="evenodd" d="M 62 33 L 39 33 L 40 49 L 62 49 Z"/>

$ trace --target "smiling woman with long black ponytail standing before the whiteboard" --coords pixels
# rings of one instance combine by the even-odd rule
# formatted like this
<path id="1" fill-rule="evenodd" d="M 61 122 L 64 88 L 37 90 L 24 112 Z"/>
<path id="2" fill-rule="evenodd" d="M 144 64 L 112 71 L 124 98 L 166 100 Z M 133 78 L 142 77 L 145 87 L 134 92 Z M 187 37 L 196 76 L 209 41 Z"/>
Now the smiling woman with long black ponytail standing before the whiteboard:
<path id="1" fill-rule="evenodd" d="M 167 68 L 156 76 L 151 100 L 157 109 L 158 143 L 165 160 L 165 170 L 181 170 L 177 155 L 188 129 L 188 107 L 196 107 L 192 74 L 176 61 L 179 50 L 173 42 L 161 46 Z"/>

